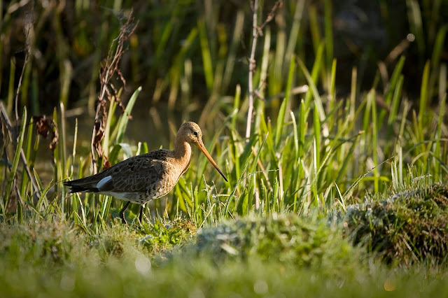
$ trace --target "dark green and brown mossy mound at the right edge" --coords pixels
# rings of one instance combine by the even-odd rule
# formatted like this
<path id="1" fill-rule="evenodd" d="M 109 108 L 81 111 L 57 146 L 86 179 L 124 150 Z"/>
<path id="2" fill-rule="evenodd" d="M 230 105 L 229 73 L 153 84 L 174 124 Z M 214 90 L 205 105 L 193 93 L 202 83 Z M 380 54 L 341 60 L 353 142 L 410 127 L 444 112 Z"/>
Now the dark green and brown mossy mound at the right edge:
<path id="1" fill-rule="evenodd" d="M 448 186 L 434 184 L 351 205 L 344 226 L 354 244 L 388 264 L 446 263 Z"/>

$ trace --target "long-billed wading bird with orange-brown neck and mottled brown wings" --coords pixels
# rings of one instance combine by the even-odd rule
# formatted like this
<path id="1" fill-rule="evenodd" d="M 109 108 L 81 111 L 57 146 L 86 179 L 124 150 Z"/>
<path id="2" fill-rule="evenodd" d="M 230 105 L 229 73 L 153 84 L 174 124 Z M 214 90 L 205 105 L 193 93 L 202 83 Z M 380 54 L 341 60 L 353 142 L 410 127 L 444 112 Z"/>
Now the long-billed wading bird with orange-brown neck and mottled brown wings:
<path id="1" fill-rule="evenodd" d="M 157 199 L 170 192 L 185 173 L 191 162 L 191 145 L 195 144 L 211 164 L 225 178 L 214 159 L 202 142 L 202 132 L 195 122 L 185 122 L 179 128 L 174 143 L 174 150 L 160 149 L 129 159 L 111 166 L 96 175 L 66 181 L 69 192 L 98 192 L 108 194 L 118 199 L 128 201 L 120 211 L 120 218 L 125 222 L 124 211 L 129 204 L 141 204 L 141 214 L 144 204 L 151 199 Z"/>

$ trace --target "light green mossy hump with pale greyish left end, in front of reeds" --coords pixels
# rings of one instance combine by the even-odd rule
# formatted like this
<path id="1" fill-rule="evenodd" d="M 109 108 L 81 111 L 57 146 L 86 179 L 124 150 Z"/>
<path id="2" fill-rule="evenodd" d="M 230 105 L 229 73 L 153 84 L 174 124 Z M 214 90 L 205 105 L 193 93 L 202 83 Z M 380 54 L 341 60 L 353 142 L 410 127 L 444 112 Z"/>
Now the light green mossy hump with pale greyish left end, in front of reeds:
<path id="1" fill-rule="evenodd" d="M 332 269 L 358 262 L 355 250 L 328 220 L 292 214 L 225 221 L 201 229 L 193 245 L 195 253 L 211 256 L 216 262 L 257 258 L 298 266 L 328 264 Z"/>

